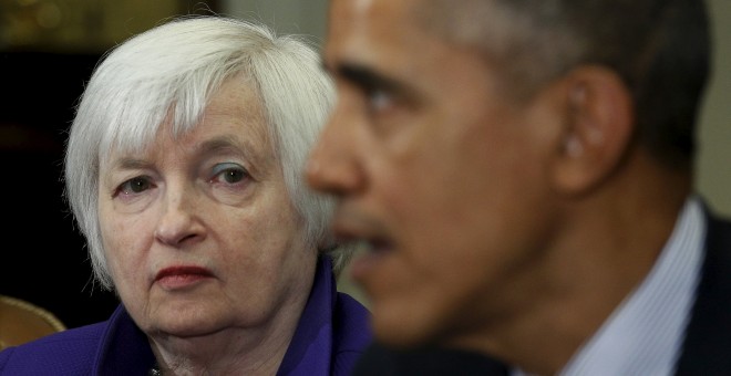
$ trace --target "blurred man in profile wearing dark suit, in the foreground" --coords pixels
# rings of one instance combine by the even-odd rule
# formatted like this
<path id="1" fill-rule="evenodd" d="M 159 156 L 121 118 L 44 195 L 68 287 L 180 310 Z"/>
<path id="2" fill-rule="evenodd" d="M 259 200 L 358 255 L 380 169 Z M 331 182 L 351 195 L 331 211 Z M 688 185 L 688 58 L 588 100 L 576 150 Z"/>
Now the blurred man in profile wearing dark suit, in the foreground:
<path id="1" fill-rule="evenodd" d="M 357 374 L 730 372 L 708 33 L 699 0 L 332 0 L 308 181 L 369 248 Z"/>

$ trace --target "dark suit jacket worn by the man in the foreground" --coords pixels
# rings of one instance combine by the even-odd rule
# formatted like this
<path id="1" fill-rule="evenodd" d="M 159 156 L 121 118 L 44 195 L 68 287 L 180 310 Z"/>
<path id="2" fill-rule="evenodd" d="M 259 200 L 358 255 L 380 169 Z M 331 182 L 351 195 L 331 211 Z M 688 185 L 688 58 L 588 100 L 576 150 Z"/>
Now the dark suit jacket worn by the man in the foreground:
<path id="1" fill-rule="evenodd" d="M 702 276 L 677 375 L 731 375 L 731 222 L 703 208 L 707 233 Z M 511 367 L 477 353 L 421 348 L 398 352 L 372 343 L 353 376 L 509 375 Z"/>

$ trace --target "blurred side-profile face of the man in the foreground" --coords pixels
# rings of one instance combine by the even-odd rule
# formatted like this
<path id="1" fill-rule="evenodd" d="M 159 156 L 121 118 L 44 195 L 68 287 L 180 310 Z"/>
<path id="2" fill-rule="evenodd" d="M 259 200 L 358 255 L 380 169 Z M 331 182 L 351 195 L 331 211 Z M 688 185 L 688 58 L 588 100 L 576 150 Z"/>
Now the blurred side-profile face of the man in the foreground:
<path id="1" fill-rule="evenodd" d="M 415 18 L 419 0 L 332 0 L 325 64 L 338 104 L 308 181 L 336 195 L 337 233 L 387 343 L 450 342 L 516 309 L 549 233 L 544 123 L 500 71 Z M 553 146 L 552 146 L 553 147 Z"/>

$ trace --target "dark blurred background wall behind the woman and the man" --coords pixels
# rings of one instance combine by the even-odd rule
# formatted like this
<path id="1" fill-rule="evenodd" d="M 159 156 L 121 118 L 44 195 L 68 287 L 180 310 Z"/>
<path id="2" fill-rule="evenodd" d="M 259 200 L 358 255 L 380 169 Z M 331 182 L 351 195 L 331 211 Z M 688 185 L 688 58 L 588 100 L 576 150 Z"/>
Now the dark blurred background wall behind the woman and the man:
<path id="1" fill-rule="evenodd" d="M 731 216 L 731 1 L 710 0 L 713 77 L 698 130 L 697 186 Z M 27 299 L 73 327 L 116 305 L 93 289 L 82 238 L 61 197 L 66 128 L 104 51 L 178 14 L 255 19 L 322 45 L 327 0 L 0 0 L 0 294 Z M 341 290 L 367 302 L 344 273 Z"/>

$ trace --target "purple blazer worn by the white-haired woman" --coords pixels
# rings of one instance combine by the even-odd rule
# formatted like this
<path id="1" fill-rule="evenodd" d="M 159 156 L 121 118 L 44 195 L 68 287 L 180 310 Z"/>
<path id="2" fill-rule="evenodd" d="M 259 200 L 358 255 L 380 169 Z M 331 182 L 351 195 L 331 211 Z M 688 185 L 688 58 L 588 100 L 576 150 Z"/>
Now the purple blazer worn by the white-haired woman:
<path id="1" fill-rule="evenodd" d="M 320 258 L 309 300 L 277 375 L 349 375 L 371 341 L 369 312 L 337 291 Z M 0 375 L 141 375 L 155 358 L 123 305 L 110 320 L 70 328 L 0 352 Z"/>

